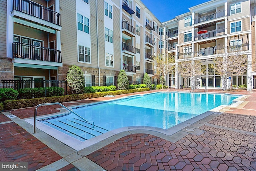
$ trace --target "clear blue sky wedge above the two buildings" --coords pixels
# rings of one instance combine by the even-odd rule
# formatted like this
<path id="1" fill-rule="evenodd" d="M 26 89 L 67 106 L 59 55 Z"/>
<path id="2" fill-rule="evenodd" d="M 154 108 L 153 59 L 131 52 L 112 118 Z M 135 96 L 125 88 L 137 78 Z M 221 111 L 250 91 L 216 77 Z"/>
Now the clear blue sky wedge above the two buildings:
<path id="1" fill-rule="evenodd" d="M 160 20 L 165 22 L 180 14 L 189 12 L 190 7 L 210 0 L 141 0 L 143 4 Z"/>

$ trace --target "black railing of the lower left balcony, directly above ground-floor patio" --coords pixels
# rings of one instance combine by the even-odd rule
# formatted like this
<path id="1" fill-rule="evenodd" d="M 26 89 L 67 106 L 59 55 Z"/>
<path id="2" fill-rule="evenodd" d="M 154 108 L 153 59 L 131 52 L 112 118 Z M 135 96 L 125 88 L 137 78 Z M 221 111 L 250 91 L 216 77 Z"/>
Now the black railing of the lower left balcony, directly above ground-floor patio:
<path id="1" fill-rule="evenodd" d="M 61 51 L 18 42 L 12 43 L 12 57 L 61 63 Z"/>

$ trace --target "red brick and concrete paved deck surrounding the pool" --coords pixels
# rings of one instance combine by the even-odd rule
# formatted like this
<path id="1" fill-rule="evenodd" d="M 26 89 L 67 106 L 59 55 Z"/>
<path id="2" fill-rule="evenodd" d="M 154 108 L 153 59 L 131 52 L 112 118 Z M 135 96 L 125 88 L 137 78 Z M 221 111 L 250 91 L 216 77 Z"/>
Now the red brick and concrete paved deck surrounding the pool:
<path id="1" fill-rule="evenodd" d="M 197 91 L 203 90 L 194 92 Z M 132 94 L 141 93 L 148 92 Z M 220 109 L 223 113 L 212 113 L 170 136 L 151 130 L 130 130 L 80 150 L 39 129 L 33 134 L 33 126 L 24 119 L 34 116 L 34 107 L 3 112 L 0 161 L 27 161 L 29 170 L 255 170 L 256 91 L 232 93 L 246 96 L 238 106 L 224 107 Z M 63 104 L 70 107 L 107 99 L 113 97 Z M 39 107 L 38 115 L 56 113 L 58 108 Z"/>

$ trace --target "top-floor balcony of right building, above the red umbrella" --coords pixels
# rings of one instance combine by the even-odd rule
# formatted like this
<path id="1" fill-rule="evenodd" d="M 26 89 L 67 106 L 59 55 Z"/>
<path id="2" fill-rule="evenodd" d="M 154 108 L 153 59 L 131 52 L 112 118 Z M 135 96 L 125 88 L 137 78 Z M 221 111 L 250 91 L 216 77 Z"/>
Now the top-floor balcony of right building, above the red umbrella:
<path id="1" fill-rule="evenodd" d="M 217 22 L 223 21 L 224 19 L 215 20 L 225 16 L 225 11 L 215 12 L 206 16 L 200 16 L 194 19 L 194 24 L 198 25 L 198 28 L 205 28 L 216 25 Z M 202 23 L 202 24 L 201 24 Z"/>

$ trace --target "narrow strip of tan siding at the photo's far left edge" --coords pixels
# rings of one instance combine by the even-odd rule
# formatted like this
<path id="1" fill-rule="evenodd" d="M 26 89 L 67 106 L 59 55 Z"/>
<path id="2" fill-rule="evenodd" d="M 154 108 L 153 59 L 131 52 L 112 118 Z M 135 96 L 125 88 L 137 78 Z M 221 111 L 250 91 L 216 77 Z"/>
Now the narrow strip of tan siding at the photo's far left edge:
<path id="1" fill-rule="evenodd" d="M 0 0 L 0 57 L 6 57 L 6 0 Z"/>

